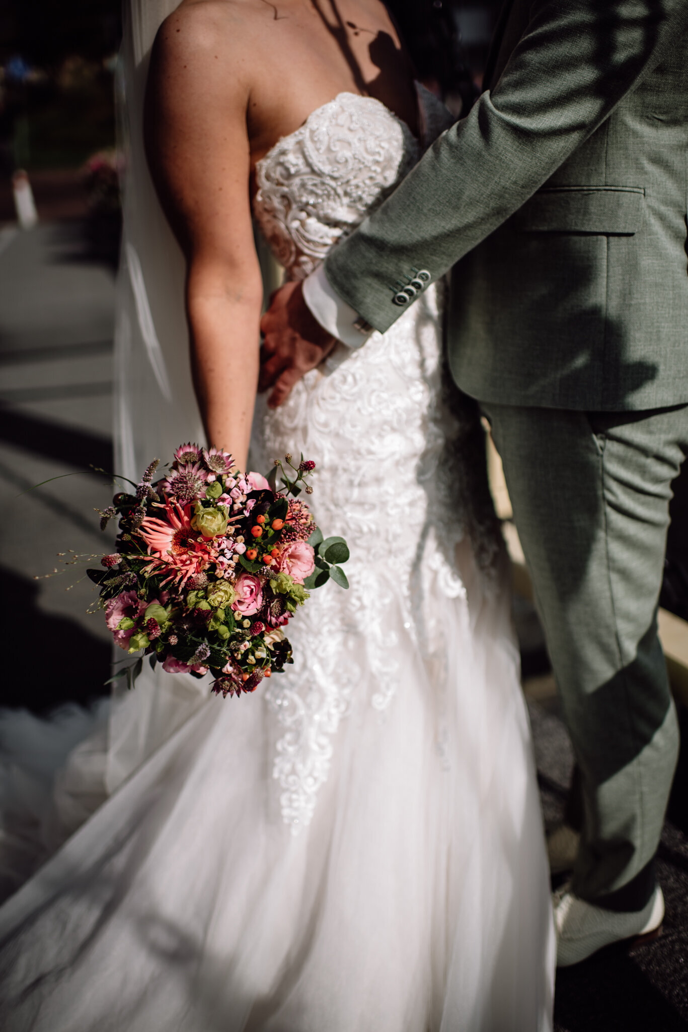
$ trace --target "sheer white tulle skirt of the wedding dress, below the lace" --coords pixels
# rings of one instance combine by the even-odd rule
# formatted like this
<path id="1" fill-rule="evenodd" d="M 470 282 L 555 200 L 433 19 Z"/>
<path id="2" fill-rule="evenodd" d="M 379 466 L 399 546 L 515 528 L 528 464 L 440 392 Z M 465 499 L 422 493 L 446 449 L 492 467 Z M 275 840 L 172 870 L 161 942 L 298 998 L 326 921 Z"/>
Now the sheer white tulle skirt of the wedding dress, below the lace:
<path id="1" fill-rule="evenodd" d="M 113 701 L 107 731 L 96 714 L 52 816 L 36 818 L 48 852 L 105 800 L 0 908 L 1 1027 L 551 1029 L 549 878 L 507 608 L 478 581 L 444 598 L 441 660 L 398 627 L 392 698 L 381 704 L 380 676 L 359 664 L 346 708 L 312 731 L 322 763 L 282 783 L 284 695 L 263 682 L 223 700 L 146 672 Z M 393 605 L 389 619 L 401 619 Z M 341 648 L 335 665 L 360 658 L 365 635 Z M 17 721 L 0 724 L 15 752 Z M 290 792 L 298 803 L 308 778 L 318 791 L 299 824 L 308 811 Z M 26 865 L 30 851 L 10 856 Z"/>

